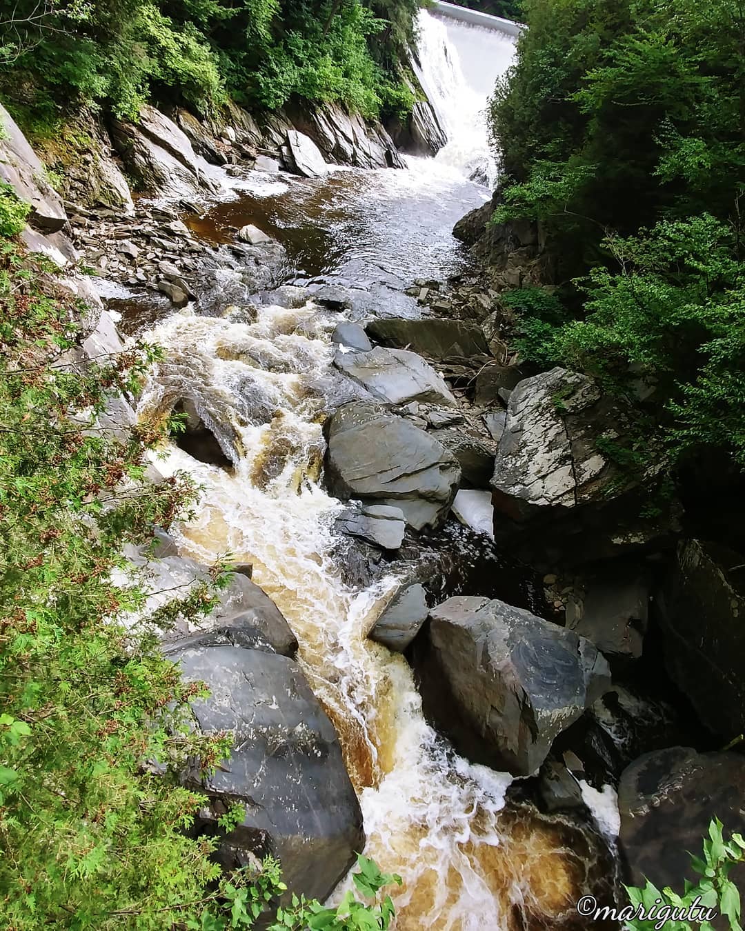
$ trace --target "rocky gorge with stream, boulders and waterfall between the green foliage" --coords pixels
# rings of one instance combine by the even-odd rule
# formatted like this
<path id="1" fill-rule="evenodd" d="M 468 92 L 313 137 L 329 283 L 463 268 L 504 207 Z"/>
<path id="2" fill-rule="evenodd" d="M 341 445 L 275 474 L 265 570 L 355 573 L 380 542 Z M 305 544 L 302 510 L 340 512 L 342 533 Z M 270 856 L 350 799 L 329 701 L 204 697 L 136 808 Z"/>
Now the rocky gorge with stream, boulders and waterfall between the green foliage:
<path id="1" fill-rule="evenodd" d="M 682 602 L 726 652 L 711 615 L 740 603 L 722 568 L 740 567 L 686 536 L 675 495 L 647 506 L 654 462 L 630 475 L 608 452 L 626 398 L 511 344 L 501 292 L 549 263 L 538 224 L 484 222 L 488 98 L 521 27 L 448 7 L 418 13 L 405 125 L 295 100 L 143 104 L 105 131 L 84 114 L 62 200 L 3 109 L 0 176 L 32 204 L 27 248 L 100 317 L 88 360 L 160 347 L 96 423 L 182 420 L 148 480 L 198 497 L 155 550 L 126 549 L 116 584 L 142 572 L 147 598 L 122 616 L 236 568 L 206 618 L 160 634 L 208 681 L 197 729 L 232 741 L 189 783 L 197 833 L 226 869 L 274 854 L 332 904 L 364 853 L 400 874 L 401 931 L 569 931 L 580 897 L 682 877 L 711 816 L 742 828 L 741 757 L 681 687 Z"/>

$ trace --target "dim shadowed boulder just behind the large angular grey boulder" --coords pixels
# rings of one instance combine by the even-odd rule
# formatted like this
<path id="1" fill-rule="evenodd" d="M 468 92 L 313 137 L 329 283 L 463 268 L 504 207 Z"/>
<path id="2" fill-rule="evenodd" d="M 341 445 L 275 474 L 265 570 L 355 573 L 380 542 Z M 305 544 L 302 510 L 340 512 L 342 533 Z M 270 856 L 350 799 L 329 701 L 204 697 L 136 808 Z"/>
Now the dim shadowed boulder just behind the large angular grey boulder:
<path id="1" fill-rule="evenodd" d="M 641 566 L 594 573 L 566 604 L 566 627 L 587 637 L 606 656 L 642 655 L 649 617 L 649 573 Z"/>

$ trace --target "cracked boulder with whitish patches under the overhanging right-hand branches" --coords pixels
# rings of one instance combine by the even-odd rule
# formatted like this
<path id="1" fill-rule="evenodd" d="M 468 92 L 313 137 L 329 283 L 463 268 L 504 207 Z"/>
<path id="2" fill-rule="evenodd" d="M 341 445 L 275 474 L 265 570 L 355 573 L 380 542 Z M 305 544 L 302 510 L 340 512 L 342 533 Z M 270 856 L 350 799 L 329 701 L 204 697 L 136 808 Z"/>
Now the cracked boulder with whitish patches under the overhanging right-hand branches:
<path id="1" fill-rule="evenodd" d="M 617 465 L 631 418 L 577 372 L 523 379 L 509 396 L 494 461 L 494 538 L 539 566 L 671 546 L 675 502 L 642 516 L 659 471 L 654 456 L 635 470 Z"/>

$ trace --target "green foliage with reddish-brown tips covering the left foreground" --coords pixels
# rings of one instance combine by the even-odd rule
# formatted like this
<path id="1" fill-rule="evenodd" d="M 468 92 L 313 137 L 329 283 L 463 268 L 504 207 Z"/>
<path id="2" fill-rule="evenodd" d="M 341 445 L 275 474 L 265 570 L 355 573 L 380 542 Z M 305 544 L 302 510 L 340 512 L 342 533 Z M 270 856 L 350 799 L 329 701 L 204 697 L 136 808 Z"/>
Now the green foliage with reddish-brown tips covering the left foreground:
<path id="1" fill-rule="evenodd" d="M 158 647 L 227 581 L 209 580 L 148 613 L 124 547 L 188 519 L 181 474 L 145 484 L 148 453 L 176 428 L 106 431 L 111 398 L 138 390 L 156 347 L 76 362 L 88 314 L 44 256 L 0 240 L 0 901 L 14 931 L 253 926 L 286 891 L 276 861 L 222 876 L 214 839 L 188 828 L 204 799 L 180 773 L 208 773 L 227 735 L 202 735 L 183 681 Z M 115 584 L 114 577 L 128 581 Z M 221 819 L 231 830 L 233 806 Z M 396 877 L 364 857 L 365 896 Z M 275 928 L 385 929 L 389 898 L 337 910 L 292 898 Z M 279 924 L 278 924 L 279 923 Z"/>

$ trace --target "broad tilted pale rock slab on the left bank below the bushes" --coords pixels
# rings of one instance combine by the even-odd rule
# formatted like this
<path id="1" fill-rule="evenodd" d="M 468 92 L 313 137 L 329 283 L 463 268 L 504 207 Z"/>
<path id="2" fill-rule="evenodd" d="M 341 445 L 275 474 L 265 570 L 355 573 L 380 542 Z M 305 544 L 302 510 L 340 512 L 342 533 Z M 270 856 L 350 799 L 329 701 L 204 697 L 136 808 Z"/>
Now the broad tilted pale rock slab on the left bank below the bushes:
<path id="1" fill-rule="evenodd" d="M 145 190 L 174 198 L 217 190 L 210 166 L 196 155 L 183 129 L 150 104 L 142 106 L 138 123 L 115 121 L 112 135 L 129 172 Z"/>

